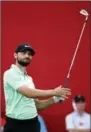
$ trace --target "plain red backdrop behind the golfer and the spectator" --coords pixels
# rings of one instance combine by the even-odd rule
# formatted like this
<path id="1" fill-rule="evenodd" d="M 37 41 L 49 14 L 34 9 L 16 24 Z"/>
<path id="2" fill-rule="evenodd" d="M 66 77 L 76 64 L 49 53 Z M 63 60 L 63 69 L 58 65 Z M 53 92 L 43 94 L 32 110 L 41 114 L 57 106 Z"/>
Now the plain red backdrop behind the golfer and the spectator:
<path id="1" fill-rule="evenodd" d="M 90 2 L 1 2 L 2 76 L 11 63 L 17 44 L 29 42 L 36 50 L 28 73 L 36 87 L 54 88 L 64 84 Z M 7 46 L 7 48 L 6 48 Z M 72 111 L 71 99 L 83 94 L 90 111 L 90 19 L 88 19 L 69 85 L 72 96 L 62 104 L 41 112 L 48 132 L 65 132 L 65 115 Z M 67 107 L 67 108 L 66 108 Z M 2 85 L 2 116 L 5 113 Z"/>

